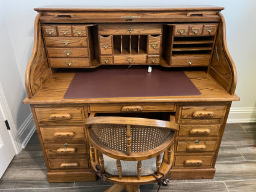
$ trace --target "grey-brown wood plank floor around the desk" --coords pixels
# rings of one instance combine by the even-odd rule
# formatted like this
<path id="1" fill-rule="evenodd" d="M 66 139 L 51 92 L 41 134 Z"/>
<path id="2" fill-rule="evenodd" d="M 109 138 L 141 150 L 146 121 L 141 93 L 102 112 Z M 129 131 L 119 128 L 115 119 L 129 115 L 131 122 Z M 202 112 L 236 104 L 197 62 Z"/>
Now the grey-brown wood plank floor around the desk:
<path id="1" fill-rule="evenodd" d="M 215 165 L 213 179 L 171 180 L 160 191 L 256 191 L 256 123 L 227 124 Z M 46 165 L 38 136 L 10 163 L 0 179 L 2 191 L 104 191 L 111 183 L 48 183 Z M 157 184 L 140 186 L 143 192 L 157 191 Z"/>

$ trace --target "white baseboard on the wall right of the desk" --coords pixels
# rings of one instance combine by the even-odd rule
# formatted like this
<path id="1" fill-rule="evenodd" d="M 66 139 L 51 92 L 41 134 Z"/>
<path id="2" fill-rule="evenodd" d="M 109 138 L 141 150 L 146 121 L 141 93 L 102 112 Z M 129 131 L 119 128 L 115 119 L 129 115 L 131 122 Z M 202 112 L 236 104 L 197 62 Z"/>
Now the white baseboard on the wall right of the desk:
<path id="1" fill-rule="evenodd" d="M 230 108 L 227 123 L 256 122 L 256 107 Z"/>

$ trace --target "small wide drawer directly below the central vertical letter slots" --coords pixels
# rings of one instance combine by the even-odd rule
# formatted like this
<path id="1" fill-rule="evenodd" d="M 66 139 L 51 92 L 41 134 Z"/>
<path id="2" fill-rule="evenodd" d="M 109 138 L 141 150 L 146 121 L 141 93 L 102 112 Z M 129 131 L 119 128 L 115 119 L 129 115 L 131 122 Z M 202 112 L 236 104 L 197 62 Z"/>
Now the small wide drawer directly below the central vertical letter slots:
<path id="1" fill-rule="evenodd" d="M 146 55 L 114 55 L 114 64 L 137 65 L 145 63 Z"/>

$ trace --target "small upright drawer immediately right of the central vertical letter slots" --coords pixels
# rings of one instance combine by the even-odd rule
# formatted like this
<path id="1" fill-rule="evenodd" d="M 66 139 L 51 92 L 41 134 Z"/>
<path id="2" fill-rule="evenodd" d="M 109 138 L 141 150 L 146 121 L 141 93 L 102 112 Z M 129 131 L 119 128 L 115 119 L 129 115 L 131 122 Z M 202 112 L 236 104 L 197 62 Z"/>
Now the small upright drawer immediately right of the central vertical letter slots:
<path id="1" fill-rule="evenodd" d="M 148 54 L 160 54 L 161 35 L 148 35 Z"/>

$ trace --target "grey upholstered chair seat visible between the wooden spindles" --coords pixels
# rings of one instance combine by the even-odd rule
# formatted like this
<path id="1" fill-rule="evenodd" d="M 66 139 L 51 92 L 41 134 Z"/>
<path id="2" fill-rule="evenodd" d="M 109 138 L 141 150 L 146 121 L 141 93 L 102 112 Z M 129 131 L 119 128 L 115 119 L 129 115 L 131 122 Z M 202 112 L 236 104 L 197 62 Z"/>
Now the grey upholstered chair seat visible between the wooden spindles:
<path id="1" fill-rule="evenodd" d="M 161 154 L 161 164 L 164 153 Z M 110 158 L 103 154 L 105 171 L 110 175 L 118 175 L 116 169 L 116 159 Z M 121 161 L 123 176 L 136 176 L 137 161 Z M 152 175 L 156 172 L 156 157 L 142 161 L 142 176 Z"/>

